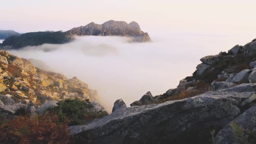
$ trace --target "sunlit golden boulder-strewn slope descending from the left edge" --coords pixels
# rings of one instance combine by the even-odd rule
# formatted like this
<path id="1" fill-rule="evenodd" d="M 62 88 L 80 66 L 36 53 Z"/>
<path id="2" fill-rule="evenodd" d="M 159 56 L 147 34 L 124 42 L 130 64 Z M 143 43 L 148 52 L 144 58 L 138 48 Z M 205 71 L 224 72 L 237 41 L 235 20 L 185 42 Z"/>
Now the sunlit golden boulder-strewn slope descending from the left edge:
<path id="1" fill-rule="evenodd" d="M 33 101 L 41 105 L 48 100 L 66 98 L 97 101 L 97 92 L 77 77 L 46 72 L 33 67 L 27 59 L 0 51 L 0 94 L 9 96 L 16 103 Z"/>

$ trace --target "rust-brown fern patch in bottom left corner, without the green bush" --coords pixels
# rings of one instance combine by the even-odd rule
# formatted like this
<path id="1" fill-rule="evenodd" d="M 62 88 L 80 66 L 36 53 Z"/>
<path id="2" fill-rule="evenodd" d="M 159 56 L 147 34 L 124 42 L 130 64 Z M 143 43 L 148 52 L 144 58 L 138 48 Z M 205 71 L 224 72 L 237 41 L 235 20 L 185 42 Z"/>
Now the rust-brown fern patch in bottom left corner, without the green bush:
<path id="1" fill-rule="evenodd" d="M 60 122 L 57 115 L 19 116 L 0 126 L 0 143 L 67 144 L 70 141 L 67 123 L 67 119 Z"/>

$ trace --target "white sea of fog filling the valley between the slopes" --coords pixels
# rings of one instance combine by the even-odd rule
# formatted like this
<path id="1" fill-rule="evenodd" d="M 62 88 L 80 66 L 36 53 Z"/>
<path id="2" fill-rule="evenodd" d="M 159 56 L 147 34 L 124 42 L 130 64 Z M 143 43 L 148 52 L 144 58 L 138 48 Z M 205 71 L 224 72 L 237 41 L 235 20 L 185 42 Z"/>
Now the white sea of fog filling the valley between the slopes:
<path id="1" fill-rule="evenodd" d="M 201 57 L 243 45 L 254 37 L 170 33 L 152 34 L 151 38 L 152 43 L 127 43 L 125 37 L 85 36 L 72 43 L 10 53 L 43 61 L 47 70 L 68 78 L 78 77 L 98 91 L 101 104 L 111 112 L 115 100 L 123 99 L 129 105 L 147 91 L 162 94 L 191 76 Z"/>

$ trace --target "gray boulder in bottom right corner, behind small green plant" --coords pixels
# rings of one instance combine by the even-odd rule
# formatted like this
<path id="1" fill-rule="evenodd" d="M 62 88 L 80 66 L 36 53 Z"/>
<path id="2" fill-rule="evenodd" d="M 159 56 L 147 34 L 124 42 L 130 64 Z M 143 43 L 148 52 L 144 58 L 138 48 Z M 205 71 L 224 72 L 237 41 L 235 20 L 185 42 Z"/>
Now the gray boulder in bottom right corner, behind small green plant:
<path id="1" fill-rule="evenodd" d="M 216 136 L 216 144 L 235 144 L 235 133 L 232 125 L 235 124 L 244 130 L 244 134 L 256 128 L 256 106 L 246 110 L 230 123 L 224 126 Z"/>

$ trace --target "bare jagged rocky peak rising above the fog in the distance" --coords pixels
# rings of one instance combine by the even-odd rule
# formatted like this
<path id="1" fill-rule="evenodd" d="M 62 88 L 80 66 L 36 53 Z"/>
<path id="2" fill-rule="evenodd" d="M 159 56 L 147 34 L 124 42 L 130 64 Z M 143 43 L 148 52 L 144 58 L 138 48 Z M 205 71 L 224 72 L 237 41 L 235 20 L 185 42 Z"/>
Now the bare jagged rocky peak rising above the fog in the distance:
<path id="1" fill-rule="evenodd" d="M 100 35 L 100 36 L 128 36 L 135 42 L 148 42 L 151 38 L 146 32 L 141 31 L 135 21 L 127 24 L 125 21 L 107 21 L 104 24 L 91 22 L 86 26 L 75 27 L 67 31 L 71 35 Z"/>

